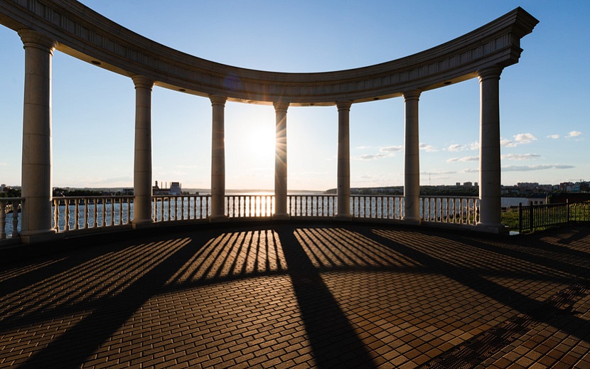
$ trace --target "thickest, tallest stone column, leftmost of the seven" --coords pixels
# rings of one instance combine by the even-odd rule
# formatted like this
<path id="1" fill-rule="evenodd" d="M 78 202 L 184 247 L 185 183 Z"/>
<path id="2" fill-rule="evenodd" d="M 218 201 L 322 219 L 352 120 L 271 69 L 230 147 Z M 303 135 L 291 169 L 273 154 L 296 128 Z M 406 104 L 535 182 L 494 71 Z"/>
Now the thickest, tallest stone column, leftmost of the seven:
<path id="1" fill-rule="evenodd" d="M 55 232 L 51 226 L 51 58 L 58 43 L 29 29 L 21 29 L 18 36 L 25 49 L 21 240 L 33 242 Z"/>

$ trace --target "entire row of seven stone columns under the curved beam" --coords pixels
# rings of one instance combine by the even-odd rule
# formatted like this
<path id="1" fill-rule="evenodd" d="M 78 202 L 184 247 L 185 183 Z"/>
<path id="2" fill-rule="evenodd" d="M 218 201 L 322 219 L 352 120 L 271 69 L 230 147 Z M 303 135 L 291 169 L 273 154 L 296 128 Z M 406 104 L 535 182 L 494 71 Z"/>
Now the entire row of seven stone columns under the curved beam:
<path id="1" fill-rule="evenodd" d="M 23 102 L 23 205 L 21 237 L 48 235 L 51 227 L 52 140 L 51 140 L 51 58 L 56 41 L 28 29 L 18 31 L 25 49 L 25 90 Z M 480 199 L 478 227 L 500 232 L 500 107 L 499 80 L 502 68 L 491 66 L 477 72 L 480 82 Z M 151 92 L 154 80 L 132 76 L 136 90 L 134 145 L 134 226 L 151 223 Z M 419 193 L 419 97 L 420 90 L 403 93 L 404 126 L 404 221 L 420 223 Z M 212 105 L 211 221 L 225 215 L 225 102 L 227 97 L 210 95 Z M 350 108 L 353 101 L 336 101 L 338 108 L 338 213 L 350 214 Z M 275 214 L 289 218 L 287 210 L 287 109 L 289 102 L 274 102 L 276 114 Z"/>

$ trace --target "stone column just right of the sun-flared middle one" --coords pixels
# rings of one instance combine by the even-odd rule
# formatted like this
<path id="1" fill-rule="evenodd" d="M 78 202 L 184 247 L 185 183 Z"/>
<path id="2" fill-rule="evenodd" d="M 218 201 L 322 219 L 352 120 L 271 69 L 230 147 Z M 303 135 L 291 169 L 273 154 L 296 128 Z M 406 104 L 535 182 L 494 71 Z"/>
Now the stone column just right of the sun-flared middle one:
<path id="1" fill-rule="evenodd" d="M 351 219 L 350 214 L 350 106 L 338 101 L 338 213 L 336 218 Z"/>

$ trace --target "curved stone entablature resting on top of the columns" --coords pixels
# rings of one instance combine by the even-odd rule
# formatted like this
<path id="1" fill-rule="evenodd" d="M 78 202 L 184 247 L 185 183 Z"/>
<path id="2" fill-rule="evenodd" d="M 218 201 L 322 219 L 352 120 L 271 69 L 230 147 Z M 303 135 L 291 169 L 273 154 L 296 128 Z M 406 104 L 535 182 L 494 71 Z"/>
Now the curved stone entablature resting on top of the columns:
<path id="1" fill-rule="evenodd" d="M 481 28 L 405 58 L 326 73 L 277 73 L 197 58 L 129 31 L 73 0 L 0 2 L 0 23 L 29 28 L 58 41 L 58 50 L 107 70 L 144 75 L 156 85 L 194 95 L 291 105 L 335 105 L 397 97 L 477 76 L 491 66 L 518 62 L 520 38 L 537 19 L 514 9 Z"/>

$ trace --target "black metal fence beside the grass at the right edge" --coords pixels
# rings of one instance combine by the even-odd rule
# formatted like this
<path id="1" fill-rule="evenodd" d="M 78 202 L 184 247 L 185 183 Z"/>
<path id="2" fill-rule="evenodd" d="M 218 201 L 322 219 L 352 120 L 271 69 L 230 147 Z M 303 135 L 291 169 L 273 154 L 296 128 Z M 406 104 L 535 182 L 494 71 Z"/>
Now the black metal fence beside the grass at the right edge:
<path id="1" fill-rule="evenodd" d="M 518 231 L 568 223 L 590 223 L 590 202 L 518 206 Z"/>

